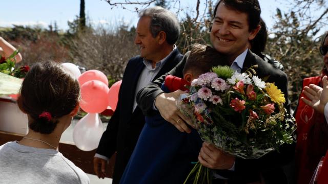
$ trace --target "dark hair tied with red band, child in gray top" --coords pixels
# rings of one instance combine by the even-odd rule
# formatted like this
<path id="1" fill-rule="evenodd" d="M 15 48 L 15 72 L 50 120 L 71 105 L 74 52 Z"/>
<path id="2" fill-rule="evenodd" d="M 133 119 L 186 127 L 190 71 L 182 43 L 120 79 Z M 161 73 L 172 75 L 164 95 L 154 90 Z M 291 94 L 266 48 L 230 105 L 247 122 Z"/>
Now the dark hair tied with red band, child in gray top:
<path id="1" fill-rule="evenodd" d="M 50 134 L 56 128 L 58 118 L 69 114 L 79 98 L 79 85 L 66 68 L 54 61 L 35 63 L 27 73 L 17 103 L 29 114 L 29 127 L 39 133 Z M 51 114 L 39 117 L 43 112 Z"/>

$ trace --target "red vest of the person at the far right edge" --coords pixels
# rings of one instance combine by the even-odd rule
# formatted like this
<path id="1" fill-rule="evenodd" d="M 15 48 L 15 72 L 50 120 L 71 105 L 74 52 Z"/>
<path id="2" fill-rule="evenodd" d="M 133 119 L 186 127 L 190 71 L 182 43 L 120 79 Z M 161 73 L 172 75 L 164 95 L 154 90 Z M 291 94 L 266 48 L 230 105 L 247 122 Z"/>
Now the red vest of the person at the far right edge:
<path id="1" fill-rule="evenodd" d="M 321 76 L 305 78 L 303 87 L 310 84 L 321 86 Z M 301 93 L 300 97 L 306 96 Z M 328 149 L 328 129 L 323 114 L 299 100 L 297 112 L 296 169 L 297 183 L 308 184 L 314 171 Z"/>

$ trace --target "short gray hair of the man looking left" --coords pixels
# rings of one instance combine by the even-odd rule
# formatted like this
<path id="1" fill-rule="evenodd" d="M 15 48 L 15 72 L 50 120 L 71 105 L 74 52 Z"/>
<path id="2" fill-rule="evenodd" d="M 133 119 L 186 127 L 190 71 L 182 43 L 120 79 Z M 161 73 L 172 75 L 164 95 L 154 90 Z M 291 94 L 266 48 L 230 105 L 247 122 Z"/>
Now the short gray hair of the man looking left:
<path id="1" fill-rule="evenodd" d="M 180 34 L 180 24 L 174 13 L 162 7 L 152 7 L 142 10 L 139 17 L 149 16 L 150 32 L 153 37 L 156 37 L 160 31 L 166 33 L 166 41 L 169 44 L 174 44 Z"/>

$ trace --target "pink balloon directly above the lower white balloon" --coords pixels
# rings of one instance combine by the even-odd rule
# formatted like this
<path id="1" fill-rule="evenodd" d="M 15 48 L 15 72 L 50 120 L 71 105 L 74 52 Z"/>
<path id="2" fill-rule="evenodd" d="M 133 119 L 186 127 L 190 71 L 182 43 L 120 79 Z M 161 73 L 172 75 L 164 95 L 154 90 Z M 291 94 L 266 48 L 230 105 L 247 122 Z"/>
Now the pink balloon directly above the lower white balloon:
<path id="1" fill-rule="evenodd" d="M 108 106 L 109 88 L 104 82 L 91 80 L 84 83 L 81 88 L 80 107 L 89 113 L 99 113 Z"/>

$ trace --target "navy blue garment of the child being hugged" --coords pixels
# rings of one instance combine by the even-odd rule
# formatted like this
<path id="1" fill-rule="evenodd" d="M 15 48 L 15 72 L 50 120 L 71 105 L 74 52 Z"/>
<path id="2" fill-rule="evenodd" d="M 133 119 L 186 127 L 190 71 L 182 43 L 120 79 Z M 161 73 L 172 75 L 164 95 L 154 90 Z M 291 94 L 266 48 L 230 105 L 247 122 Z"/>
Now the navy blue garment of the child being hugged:
<path id="1" fill-rule="evenodd" d="M 198 162 L 202 141 L 198 132 L 180 132 L 159 112 L 146 124 L 120 184 L 183 183 Z"/>

